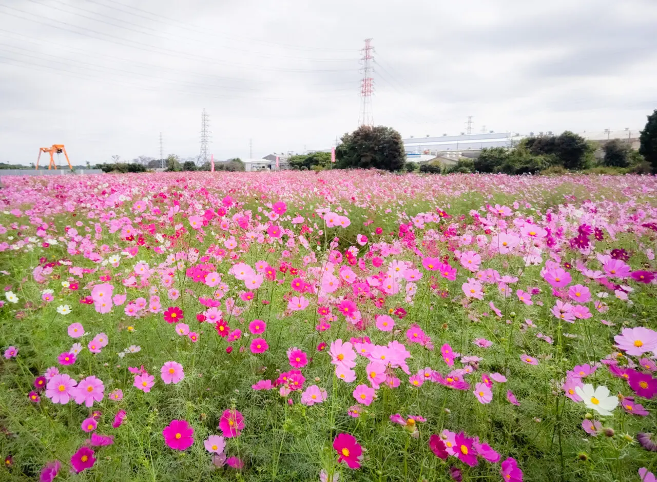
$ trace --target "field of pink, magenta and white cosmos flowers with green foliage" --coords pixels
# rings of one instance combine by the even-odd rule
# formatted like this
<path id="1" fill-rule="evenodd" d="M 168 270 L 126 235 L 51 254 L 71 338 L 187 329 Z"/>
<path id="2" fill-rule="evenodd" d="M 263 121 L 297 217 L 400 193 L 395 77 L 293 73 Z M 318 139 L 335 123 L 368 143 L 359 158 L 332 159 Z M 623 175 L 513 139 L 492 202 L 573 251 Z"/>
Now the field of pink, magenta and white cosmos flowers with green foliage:
<path id="1" fill-rule="evenodd" d="M 1 480 L 654 481 L 655 177 L 3 185 Z"/>

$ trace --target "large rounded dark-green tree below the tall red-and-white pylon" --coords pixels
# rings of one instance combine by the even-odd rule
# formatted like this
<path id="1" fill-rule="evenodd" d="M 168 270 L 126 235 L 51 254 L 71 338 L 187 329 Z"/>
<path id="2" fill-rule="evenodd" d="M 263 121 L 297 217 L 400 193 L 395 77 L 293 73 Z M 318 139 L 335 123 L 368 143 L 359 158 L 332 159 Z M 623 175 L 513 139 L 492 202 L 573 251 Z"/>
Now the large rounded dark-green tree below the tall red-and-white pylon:
<path id="1" fill-rule="evenodd" d="M 335 150 L 336 167 L 399 171 L 406 162 L 401 135 L 392 127 L 361 125 L 342 136 Z"/>

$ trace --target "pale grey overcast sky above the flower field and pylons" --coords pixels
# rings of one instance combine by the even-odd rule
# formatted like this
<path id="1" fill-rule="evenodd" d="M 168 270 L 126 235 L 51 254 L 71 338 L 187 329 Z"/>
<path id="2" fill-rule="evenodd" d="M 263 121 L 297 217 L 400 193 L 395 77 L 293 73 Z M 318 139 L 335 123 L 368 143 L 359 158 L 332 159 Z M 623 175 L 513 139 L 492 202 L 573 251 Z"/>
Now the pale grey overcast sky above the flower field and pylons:
<path id="1" fill-rule="evenodd" d="M 405 7 L 400 7 L 405 5 Z M 416 137 L 642 128 L 657 108 L 655 0 L 0 0 L 0 162 L 66 144 L 216 159 L 328 148 L 374 123 Z"/>

